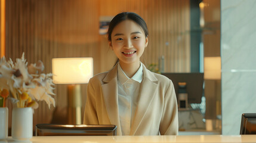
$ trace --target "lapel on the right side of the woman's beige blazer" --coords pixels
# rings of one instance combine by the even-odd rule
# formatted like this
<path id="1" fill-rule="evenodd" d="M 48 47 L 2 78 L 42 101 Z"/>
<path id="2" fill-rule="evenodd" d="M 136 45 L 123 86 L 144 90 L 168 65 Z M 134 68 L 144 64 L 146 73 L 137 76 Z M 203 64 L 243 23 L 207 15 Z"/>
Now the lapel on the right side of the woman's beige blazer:
<path id="1" fill-rule="evenodd" d="M 156 88 L 158 88 L 157 79 L 151 71 L 147 70 L 143 65 L 143 82 L 140 88 L 140 97 L 138 99 L 137 109 L 135 111 L 134 119 L 132 120 L 130 135 L 134 135 L 140 126 L 144 115 L 147 113 L 149 106 L 155 97 Z"/>

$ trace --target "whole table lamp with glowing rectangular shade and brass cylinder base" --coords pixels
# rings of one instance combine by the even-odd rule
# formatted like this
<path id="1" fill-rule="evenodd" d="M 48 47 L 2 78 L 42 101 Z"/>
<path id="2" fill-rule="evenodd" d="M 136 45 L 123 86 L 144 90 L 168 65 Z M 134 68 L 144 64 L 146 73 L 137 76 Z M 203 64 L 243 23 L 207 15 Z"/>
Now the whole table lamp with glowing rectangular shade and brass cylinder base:
<path id="1" fill-rule="evenodd" d="M 93 76 L 92 58 L 53 58 L 53 83 L 68 84 L 68 123 L 81 125 L 81 85 Z"/>

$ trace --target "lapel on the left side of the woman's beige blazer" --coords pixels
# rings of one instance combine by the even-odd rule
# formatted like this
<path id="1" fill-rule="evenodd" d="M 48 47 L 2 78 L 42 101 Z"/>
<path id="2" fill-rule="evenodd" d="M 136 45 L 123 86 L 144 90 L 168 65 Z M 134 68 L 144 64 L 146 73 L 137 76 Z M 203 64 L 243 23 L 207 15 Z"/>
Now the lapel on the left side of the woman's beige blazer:
<path id="1" fill-rule="evenodd" d="M 116 75 L 117 66 L 113 67 L 104 77 L 103 82 L 105 84 L 101 85 L 101 89 L 110 123 L 118 126 L 117 134 L 122 135 L 118 113 L 118 80 Z"/>

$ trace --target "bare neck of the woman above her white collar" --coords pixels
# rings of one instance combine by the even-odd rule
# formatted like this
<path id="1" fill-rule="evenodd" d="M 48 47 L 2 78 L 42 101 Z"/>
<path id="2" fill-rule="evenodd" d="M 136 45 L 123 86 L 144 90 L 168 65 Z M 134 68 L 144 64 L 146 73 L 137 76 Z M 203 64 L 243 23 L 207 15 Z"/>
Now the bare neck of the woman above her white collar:
<path id="1" fill-rule="evenodd" d="M 140 68 L 140 61 L 131 63 L 131 64 L 126 64 L 122 63 L 121 61 L 119 62 L 122 70 L 125 72 L 125 74 L 131 78 L 134 76 L 134 74 L 137 72 L 137 70 Z"/>

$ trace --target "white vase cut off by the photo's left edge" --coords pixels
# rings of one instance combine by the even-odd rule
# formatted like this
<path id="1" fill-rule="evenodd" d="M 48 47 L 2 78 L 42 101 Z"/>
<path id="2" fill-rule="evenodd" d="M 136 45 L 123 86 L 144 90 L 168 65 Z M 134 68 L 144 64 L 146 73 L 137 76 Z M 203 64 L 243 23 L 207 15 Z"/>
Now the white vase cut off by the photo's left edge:
<path id="1" fill-rule="evenodd" d="M 0 140 L 8 137 L 8 108 L 0 107 Z"/>

